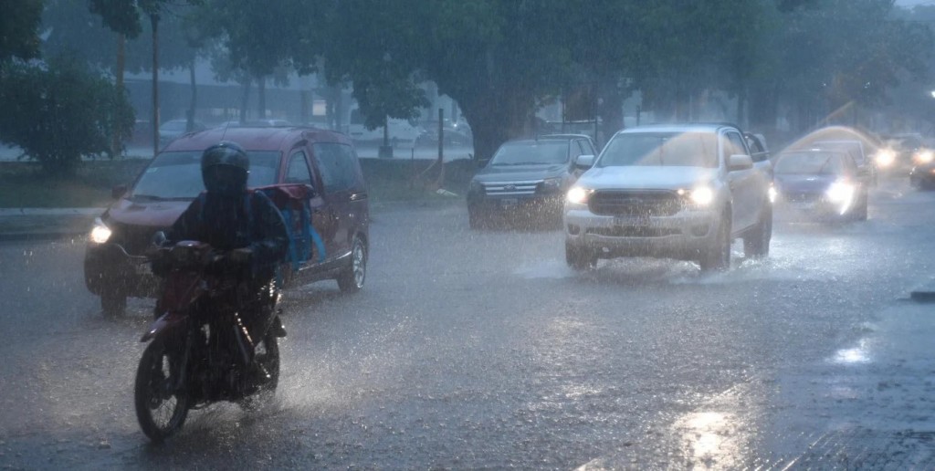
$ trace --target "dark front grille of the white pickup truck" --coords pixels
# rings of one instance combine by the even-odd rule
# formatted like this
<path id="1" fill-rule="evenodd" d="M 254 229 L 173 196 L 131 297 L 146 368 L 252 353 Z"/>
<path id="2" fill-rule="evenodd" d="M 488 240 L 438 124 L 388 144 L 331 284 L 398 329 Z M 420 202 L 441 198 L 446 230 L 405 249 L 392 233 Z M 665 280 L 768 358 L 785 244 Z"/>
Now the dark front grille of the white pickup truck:
<path id="1" fill-rule="evenodd" d="M 598 190 L 588 209 L 602 216 L 672 216 L 682 209 L 682 197 L 669 191 Z"/>

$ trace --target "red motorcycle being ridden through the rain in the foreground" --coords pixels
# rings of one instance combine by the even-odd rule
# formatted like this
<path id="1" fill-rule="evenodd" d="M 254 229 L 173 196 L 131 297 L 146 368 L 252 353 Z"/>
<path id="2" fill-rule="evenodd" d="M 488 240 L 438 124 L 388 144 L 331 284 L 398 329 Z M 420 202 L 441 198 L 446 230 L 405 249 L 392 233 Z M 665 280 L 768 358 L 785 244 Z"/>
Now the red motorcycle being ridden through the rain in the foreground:
<path id="1" fill-rule="evenodd" d="M 158 319 L 140 339 L 150 344 L 134 388 L 137 420 L 155 442 L 178 432 L 190 409 L 218 401 L 252 409 L 271 400 L 280 377 L 278 338 L 285 336 L 277 288 L 249 291 L 249 250 L 222 253 L 197 241 L 164 247 L 159 236 L 147 253 L 163 276 Z M 268 313 L 249 330 L 241 317 L 247 303 L 267 303 L 252 307 Z"/>

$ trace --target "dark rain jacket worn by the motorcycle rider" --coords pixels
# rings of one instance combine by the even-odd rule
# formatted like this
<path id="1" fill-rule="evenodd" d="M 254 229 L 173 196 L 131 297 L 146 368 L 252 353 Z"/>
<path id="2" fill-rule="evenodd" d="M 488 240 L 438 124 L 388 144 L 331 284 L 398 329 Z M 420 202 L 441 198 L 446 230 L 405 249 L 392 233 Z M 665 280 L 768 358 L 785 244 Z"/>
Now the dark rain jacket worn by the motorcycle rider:
<path id="1" fill-rule="evenodd" d="M 244 192 L 239 198 L 203 193 L 185 209 L 166 236 L 172 241 L 206 242 L 218 250 L 251 249 L 253 281 L 258 285 L 273 278 L 276 265 L 289 250 L 282 214 L 261 192 Z"/>

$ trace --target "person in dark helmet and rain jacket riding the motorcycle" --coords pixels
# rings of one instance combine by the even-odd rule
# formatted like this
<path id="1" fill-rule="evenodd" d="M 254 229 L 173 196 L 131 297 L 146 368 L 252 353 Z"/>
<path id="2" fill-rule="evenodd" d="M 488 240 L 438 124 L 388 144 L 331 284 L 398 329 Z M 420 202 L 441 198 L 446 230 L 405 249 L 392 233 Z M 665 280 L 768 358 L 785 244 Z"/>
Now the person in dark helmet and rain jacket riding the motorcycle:
<path id="1" fill-rule="evenodd" d="M 240 315 L 252 337 L 258 336 L 272 320 L 276 299 L 272 290 L 277 265 L 289 247 L 285 221 L 277 207 L 262 192 L 248 192 L 250 160 L 237 143 L 222 141 L 201 156 L 202 193 L 175 221 L 166 234 L 170 241 L 198 240 L 212 249 L 226 252 L 226 262 L 247 266 L 249 299 Z M 221 264 L 232 266 L 233 264 Z M 281 325 L 271 328 L 281 329 Z"/>

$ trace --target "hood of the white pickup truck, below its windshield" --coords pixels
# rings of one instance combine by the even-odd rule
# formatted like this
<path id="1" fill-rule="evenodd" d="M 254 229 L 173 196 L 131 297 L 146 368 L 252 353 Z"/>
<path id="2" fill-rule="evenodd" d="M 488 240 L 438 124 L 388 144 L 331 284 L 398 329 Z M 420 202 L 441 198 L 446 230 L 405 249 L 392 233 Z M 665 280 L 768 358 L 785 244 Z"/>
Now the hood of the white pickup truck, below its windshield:
<path id="1" fill-rule="evenodd" d="M 593 190 L 678 190 L 717 177 L 716 168 L 688 166 L 608 166 L 584 172 L 578 185 Z"/>

